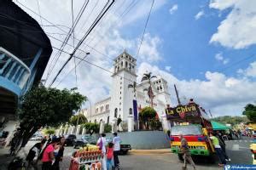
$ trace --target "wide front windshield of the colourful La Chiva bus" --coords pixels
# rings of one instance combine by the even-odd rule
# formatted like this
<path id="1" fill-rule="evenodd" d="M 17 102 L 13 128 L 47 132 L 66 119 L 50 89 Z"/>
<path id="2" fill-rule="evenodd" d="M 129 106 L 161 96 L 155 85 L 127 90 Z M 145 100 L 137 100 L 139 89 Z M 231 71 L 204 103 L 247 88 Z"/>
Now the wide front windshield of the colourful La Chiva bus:
<path id="1" fill-rule="evenodd" d="M 171 130 L 172 135 L 198 135 L 202 134 L 201 126 L 197 125 L 177 125 L 172 127 Z"/>

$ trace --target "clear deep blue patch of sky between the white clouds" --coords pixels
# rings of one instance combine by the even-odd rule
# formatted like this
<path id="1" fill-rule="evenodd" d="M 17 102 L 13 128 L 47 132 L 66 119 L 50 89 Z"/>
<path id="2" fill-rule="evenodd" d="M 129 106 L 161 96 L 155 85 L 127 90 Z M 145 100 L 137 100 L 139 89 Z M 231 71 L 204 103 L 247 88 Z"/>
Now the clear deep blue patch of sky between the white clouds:
<path id="1" fill-rule="evenodd" d="M 179 79 L 199 78 L 204 80 L 204 72 L 221 71 L 227 76 L 236 77 L 237 69 L 245 69 L 256 57 L 237 61 L 255 54 L 255 45 L 246 49 L 225 48 L 219 44 L 210 43 L 212 35 L 218 30 L 220 22 L 230 13 L 230 8 L 219 12 L 209 8 L 209 1 L 168 1 L 166 5 L 151 14 L 147 32 L 160 37 L 162 45 L 159 48 L 164 62 L 156 62 L 164 68 L 172 66 L 172 73 Z M 169 10 L 177 5 L 177 10 L 170 14 Z M 204 14 L 195 20 L 195 15 L 200 11 Z M 219 16 L 221 14 L 221 16 Z M 135 38 L 143 32 L 145 17 L 125 26 L 122 30 L 124 37 Z M 231 33 L 231 32 L 230 32 Z M 227 64 L 215 59 L 216 54 L 222 54 L 224 59 L 229 59 Z"/>

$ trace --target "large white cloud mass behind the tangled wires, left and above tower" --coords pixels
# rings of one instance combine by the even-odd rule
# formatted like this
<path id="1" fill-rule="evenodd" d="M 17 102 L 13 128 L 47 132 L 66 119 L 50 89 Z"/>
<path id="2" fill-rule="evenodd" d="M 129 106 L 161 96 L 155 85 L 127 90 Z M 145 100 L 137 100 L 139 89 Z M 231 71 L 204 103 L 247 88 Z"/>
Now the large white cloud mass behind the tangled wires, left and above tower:
<path id="1" fill-rule="evenodd" d="M 20 0 L 20 3 L 24 4 L 28 8 L 32 8 L 33 11 L 38 13 L 38 3 L 35 1 L 26 1 L 26 0 Z M 98 2 L 98 3 L 97 3 Z M 81 20 L 79 20 L 79 24 L 76 27 L 75 30 L 75 37 L 77 39 L 75 40 L 75 45 L 79 42 L 79 39 L 81 39 L 84 36 L 85 31 L 88 30 L 91 23 L 96 19 L 97 14 L 102 10 L 105 3 L 107 3 L 107 0 L 104 1 L 90 1 L 88 3 L 88 6 L 86 10 L 84 11 L 84 14 L 81 17 Z M 65 1 L 64 3 L 61 0 L 55 0 L 55 1 L 49 1 L 45 3 L 42 0 L 39 0 L 40 3 L 40 12 L 44 18 L 47 20 L 50 20 L 55 25 L 61 25 L 61 28 L 68 31 L 67 27 L 63 26 L 72 26 L 72 15 L 71 15 L 71 3 L 68 1 Z M 91 48 L 87 47 L 86 45 L 81 45 L 80 48 L 84 51 L 90 51 L 90 55 L 86 58 L 88 61 L 90 61 L 93 64 L 99 65 L 102 68 L 112 71 L 113 70 L 113 58 L 115 58 L 118 54 L 122 53 L 124 49 L 127 50 L 128 53 L 134 55 L 137 53 L 137 46 L 138 46 L 138 40 L 139 36 L 134 39 L 127 39 L 122 37 L 119 30 L 123 26 L 126 26 L 128 24 L 131 24 L 134 21 L 140 20 L 142 18 L 146 18 L 148 15 L 149 8 L 151 6 L 151 3 L 145 2 L 145 1 L 139 1 L 138 3 L 135 3 L 136 5 L 132 5 L 134 3 L 125 1 L 124 2 L 115 2 L 113 7 L 108 11 L 108 13 L 102 18 L 99 25 L 96 26 L 94 31 L 92 31 L 89 35 L 89 37 L 86 38 L 84 43 L 90 45 L 90 47 L 96 48 L 98 51 L 100 51 L 102 54 L 107 54 L 108 57 L 96 53 L 95 50 L 92 50 Z M 160 7 L 162 7 L 166 3 L 166 0 L 158 0 L 154 3 L 154 8 L 152 10 L 152 14 L 154 14 L 154 11 L 158 10 Z M 16 3 L 20 6 L 20 8 L 23 8 L 26 13 L 30 14 L 35 20 L 38 21 L 39 24 L 41 24 L 40 17 L 38 15 L 33 14 L 31 11 L 27 10 L 26 8 L 22 7 L 19 3 Z M 79 13 L 79 9 L 81 8 L 81 2 L 80 1 L 74 1 L 73 7 L 74 7 L 74 16 L 76 17 Z M 131 5 L 131 10 L 129 13 L 124 14 L 125 9 Z M 96 7 L 96 8 L 94 8 Z M 142 7 L 145 10 L 142 10 Z M 148 10 L 147 10 L 148 8 Z M 128 12 L 128 11 L 127 11 Z M 90 14 L 90 15 L 89 15 Z M 122 15 L 121 18 L 119 16 Z M 144 19 L 143 19 L 144 20 Z M 47 21 L 43 20 L 43 25 L 51 25 Z M 57 32 L 57 33 L 63 33 L 59 29 L 55 28 L 55 26 L 44 26 L 45 32 Z M 51 35 L 51 34 L 50 34 Z M 64 41 L 66 35 L 51 35 L 54 36 L 61 41 Z M 54 38 L 49 37 L 52 45 L 56 48 L 61 47 L 61 42 L 56 41 Z M 160 54 L 158 52 L 158 45 L 160 45 L 160 38 L 157 36 L 152 37 L 149 33 L 145 35 L 144 42 L 141 48 L 140 56 L 138 56 L 138 59 L 144 59 L 148 62 L 150 61 L 156 61 L 160 59 Z M 69 44 L 73 44 L 73 38 L 70 38 L 68 41 Z M 55 49 L 53 49 L 53 54 L 49 60 L 49 63 L 51 63 L 51 60 L 54 59 L 55 54 L 58 52 Z M 64 48 L 67 52 L 72 52 L 73 47 L 70 47 L 66 45 Z M 80 51 L 77 51 L 77 56 L 84 58 L 84 53 L 80 53 Z M 55 68 L 53 72 L 51 73 L 49 77 L 49 81 L 46 85 L 49 85 L 49 82 L 53 79 L 55 76 L 56 71 L 58 71 L 61 68 L 61 65 L 67 60 L 68 54 L 61 54 L 60 59 L 55 64 Z M 109 59 L 111 58 L 111 59 Z M 79 59 L 76 59 L 76 63 L 79 62 Z M 61 75 L 57 78 L 57 81 L 55 82 L 55 87 L 59 81 L 67 75 L 67 72 L 73 69 L 74 62 L 73 60 L 68 63 L 68 65 L 65 67 L 65 69 L 61 72 Z M 44 72 L 44 78 L 47 76 L 49 65 L 47 66 L 47 69 Z M 85 62 L 82 62 L 78 68 L 77 68 L 77 76 L 78 76 L 78 85 L 79 85 L 79 92 L 81 94 L 84 94 L 88 96 L 91 103 L 96 102 L 99 99 L 103 99 L 108 97 L 109 95 L 109 88 L 111 87 L 111 74 L 107 71 L 102 71 L 100 68 L 96 68 L 96 66 L 89 65 Z M 100 77 L 100 78 L 96 78 Z M 58 88 L 73 88 L 76 86 L 75 83 L 75 74 L 74 71 L 72 71 L 58 86 Z"/>

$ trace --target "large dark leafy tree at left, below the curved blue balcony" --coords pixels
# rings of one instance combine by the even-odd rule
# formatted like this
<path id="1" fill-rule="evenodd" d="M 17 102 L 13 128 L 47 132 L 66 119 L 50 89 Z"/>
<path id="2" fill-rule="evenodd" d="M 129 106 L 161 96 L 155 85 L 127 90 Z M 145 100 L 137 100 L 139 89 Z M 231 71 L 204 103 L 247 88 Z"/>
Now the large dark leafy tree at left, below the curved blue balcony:
<path id="1" fill-rule="evenodd" d="M 17 111 L 20 129 L 17 138 L 21 138 L 21 147 L 24 147 L 40 127 L 56 127 L 68 122 L 73 111 L 80 109 L 86 97 L 79 94 L 76 88 L 60 90 L 45 88 L 40 84 L 28 91 L 20 100 L 20 109 Z"/>

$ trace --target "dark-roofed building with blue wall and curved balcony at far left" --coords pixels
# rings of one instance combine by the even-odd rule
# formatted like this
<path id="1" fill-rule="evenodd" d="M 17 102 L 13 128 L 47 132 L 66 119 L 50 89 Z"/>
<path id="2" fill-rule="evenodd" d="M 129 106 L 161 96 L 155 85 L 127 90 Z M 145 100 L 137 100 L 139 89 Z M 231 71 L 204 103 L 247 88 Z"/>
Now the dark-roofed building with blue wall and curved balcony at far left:
<path id="1" fill-rule="evenodd" d="M 20 96 L 40 82 L 51 53 L 38 22 L 11 0 L 0 0 L 0 129 L 15 121 Z"/>

